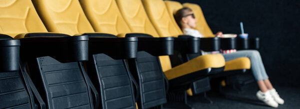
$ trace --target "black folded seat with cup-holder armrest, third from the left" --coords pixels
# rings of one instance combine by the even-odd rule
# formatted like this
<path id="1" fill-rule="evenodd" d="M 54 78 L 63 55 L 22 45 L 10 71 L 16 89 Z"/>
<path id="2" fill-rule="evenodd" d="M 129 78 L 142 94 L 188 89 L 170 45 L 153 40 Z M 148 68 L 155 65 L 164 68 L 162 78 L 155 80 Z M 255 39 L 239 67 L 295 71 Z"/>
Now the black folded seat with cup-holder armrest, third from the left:
<path id="1" fill-rule="evenodd" d="M 104 33 L 86 35 L 90 53 L 88 75 L 101 94 L 102 109 L 136 109 L 138 96 L 134 96 L 133 89 L 135 93 L 139 91 L 125 59 L 136 57 L 137 38 Z"/>

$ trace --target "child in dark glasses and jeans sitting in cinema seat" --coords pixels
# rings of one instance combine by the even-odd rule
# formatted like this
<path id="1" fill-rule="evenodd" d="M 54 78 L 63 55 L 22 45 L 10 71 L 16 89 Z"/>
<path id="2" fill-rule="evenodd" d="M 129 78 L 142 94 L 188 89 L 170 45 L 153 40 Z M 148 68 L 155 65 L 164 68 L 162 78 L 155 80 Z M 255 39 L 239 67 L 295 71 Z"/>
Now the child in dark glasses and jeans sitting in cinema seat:
<path id="1" fill-rule="evenodd" d="M 199 31 L 195 30 L 196 19 L 192 10 L 188 7 L 179 9 L 175 14 L 176 23 L 179 25 L 185 35 L 194 37 L 203 37 Z M 216 36 L 221 36 L 222 32 L 217 32 Z M 279 97 L 276 90 L 270 83 L 265 72 L 260 54 L 257 50 L 240 50 L 233 53 L 222 54 L 225 61 L 239 57 L 248 57 L 251 61 L 252 74 L 257 82 L 259 91 L 256 97 L 270 107 L 277 108 L 278 104 L 283 105 L 284 101 Z"/>

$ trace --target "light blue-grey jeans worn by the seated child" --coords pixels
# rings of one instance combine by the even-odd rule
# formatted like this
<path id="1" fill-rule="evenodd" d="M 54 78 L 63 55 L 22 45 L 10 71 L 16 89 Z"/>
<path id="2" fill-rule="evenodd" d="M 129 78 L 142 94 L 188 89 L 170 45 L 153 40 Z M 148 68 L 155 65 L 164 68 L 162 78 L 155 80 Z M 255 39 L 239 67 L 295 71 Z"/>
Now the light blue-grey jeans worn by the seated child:
<path id="1" fill-rule="evenodd" d="M 255 80 L 259 81 L 268 79 L 260 54 L 257 50 L 239 50 L 234 53 L 223 54 L 223 56 L 225 61 L 240 57 L 248 57 L 251 61 L 251 70 Z"/>

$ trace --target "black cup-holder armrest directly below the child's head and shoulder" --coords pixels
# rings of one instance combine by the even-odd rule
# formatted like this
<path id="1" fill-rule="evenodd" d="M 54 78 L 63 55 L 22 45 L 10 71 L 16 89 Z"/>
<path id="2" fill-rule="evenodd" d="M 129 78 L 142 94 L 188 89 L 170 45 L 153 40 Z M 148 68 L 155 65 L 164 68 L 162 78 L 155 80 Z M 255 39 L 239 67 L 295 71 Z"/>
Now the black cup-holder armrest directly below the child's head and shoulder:
<path id="1" fill-rule="evenodd" d="M 174 49 L 181 54 L 194 54 L 200 52 L 200 38 L 189 35 L 179 35 L 175 38 Z"/>

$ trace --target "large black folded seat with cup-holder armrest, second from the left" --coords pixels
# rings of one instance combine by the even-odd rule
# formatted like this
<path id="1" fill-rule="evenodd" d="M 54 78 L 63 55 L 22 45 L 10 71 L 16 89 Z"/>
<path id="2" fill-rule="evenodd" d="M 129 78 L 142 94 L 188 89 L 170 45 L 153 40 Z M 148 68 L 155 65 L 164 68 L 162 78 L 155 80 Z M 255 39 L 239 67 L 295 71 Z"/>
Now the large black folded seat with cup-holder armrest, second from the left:
<path id="1" fill-rule="evenodd" d="M 47 109 L 97 108 L 97 92 L 80 62 L 88 59 L 88 37 L 59 35 L 20 39 L 22 62 L 27 62 L 36 89 Z"/>

